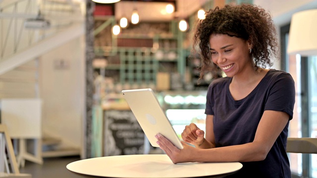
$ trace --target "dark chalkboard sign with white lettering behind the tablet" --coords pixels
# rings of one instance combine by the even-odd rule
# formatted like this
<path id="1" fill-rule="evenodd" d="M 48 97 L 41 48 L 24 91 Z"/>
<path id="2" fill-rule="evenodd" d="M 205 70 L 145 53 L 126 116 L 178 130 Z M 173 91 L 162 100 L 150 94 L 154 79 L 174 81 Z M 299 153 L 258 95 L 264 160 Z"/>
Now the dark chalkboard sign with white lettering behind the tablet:
<path id="1" fill-rule="evenodd" d="M 145 134 L 132 111 L 105 111 L 104 156 L 144 153 Z"/>

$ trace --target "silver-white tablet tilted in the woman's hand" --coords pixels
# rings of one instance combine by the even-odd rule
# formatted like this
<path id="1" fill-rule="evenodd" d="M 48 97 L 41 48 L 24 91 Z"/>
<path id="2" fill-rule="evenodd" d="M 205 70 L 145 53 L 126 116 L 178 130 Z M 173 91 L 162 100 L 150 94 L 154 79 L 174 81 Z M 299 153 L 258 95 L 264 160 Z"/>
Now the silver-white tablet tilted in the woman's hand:
<path id="1" fill-rule="evenodd" d="M 122 90 L 122 94 L 152 146 L 159 147 L 155 135 L 162 134 L 177 148 L 183 149 L 152 89 Z"/>

